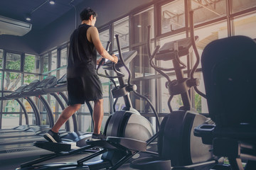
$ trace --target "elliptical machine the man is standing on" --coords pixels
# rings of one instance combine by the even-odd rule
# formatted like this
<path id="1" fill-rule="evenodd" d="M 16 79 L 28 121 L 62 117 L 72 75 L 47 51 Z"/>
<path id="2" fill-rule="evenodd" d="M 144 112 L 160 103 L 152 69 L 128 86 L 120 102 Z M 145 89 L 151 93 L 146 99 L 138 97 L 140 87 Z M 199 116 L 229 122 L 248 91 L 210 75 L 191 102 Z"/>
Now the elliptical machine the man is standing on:
<path id="1" fill-rule="evenodd" d="M 108 74 L 106 74 L 105 77 L 108 77 L 110 79 L 117 78 L 119 80 L 120 86 L 115 86 L 115 88 L 112 90 L 112 94 L 114 97 L 123 96 L 124 101 L 126 102 L 125 104 L 127 106 L 122 111 L 117 111 L 113 113 L 107 120 L 105 128 L 107 140 L 87 141 L 87 146 L 72 151 L 70 151 L 70 147 L 65 144 L 49 144 L 48 149 L 51 149 L 53 151 L 53 147 L 60 146 L 64 147 L 65 152 L 61 152 L 60 147 L 58 147 L 58 152 L 53 151 L 56 152 L 55 154 L 51 154 L 47 157 L 43 157 L 41 159 L 36 159 L 32 162 L 22 164 L 21 169 L 103 169 L 111 167 L 111 169 L 114 170 L 127 162 L 137 152 L 146 151 L 146 142 L 144 141 L 149 140 L 149 138 L 154 135 L 154 128 L 152 128 L 151 123 L 149 123 L 146 118 L 144 118 L 142 115 L 139 114 L 138 111 L 132 108 L 132 103 L 129 99 L 129 92 L 136 91 L 136 86 L 130 84 L 131 74 L 126 64 L 137 55 L 137 52 L 131 51 L 124 52 L 122 54 L 119 46 L 118 35 L 116 35 L 116 37 L 117 47 L 119 50 L 119 62 L 117 64 L 114 64 L 112 62 L 106 62 L 105 64 L 103 64 L 102 67 L 104 69 L 112 68 L 114 72 L 117 73 L 117 77 L 110 77 Z M 122 72 L 120 72 L 119 70 L 120 67 L 123 66 L 127 69 L 129 73 L 128 84 L 124 83 L 124 74 L 122 74 Z M 150 102 L 147 98 L 144 99 Z M 152 109 L 154 110 L 154 108 Z M 102 147 L 103 149 L 88 157 L 82 158 L 75 163 L 40 164 L 41 162 L 45 162 L 46 160 L 53 159 L 55 157 L 77 154 L 92 147 Z M 97 161 L 96 164 L 84 164 L 84 162 L 95 158 L 101 154 L 102 160 Z"/>

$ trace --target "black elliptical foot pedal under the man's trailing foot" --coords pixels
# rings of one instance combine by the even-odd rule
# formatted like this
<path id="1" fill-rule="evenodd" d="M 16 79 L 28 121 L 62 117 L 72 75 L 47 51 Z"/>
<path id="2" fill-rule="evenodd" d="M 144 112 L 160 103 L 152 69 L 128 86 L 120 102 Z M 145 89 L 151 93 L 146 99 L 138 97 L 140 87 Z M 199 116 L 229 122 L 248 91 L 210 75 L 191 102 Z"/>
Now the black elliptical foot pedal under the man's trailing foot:
<path id="1" fill-rule="evenodd" d="M 70 144 L 63 144 L 63 143 L 38 141 L 38 142 L 34 142 L 33 145 L 35 147 L 46 149 L 51 152 L 69 152 L 71 150 Z"/>

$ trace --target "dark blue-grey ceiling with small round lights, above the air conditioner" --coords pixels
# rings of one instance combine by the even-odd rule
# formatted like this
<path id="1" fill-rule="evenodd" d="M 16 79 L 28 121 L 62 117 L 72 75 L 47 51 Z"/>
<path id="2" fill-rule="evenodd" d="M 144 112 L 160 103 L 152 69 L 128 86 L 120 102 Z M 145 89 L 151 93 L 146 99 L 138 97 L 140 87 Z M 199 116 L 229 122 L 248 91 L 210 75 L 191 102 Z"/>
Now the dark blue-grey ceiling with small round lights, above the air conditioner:
<path id="1" fill-rule="evenodd" d="M 82 1 L 55 0 L 52 5 L 49 0 L 1 0 L 0 16 L 31 23 L 33 30 L 41 30 Z M 26 21 L 26 13 L 31 13 L 31 21 Z"/>

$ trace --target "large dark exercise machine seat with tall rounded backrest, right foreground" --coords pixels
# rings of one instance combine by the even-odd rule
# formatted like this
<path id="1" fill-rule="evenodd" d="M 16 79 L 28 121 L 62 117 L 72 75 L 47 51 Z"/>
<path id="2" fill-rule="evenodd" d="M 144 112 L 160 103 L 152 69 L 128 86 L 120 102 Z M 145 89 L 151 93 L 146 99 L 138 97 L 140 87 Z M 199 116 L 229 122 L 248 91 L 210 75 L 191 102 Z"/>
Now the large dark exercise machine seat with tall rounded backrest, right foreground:
<path id="1" fill-rule="evenodd" d="M 239 35 L 210 42 L 201 57 L 210 118 L 194 134 L 213 143 L 213 154 L 228 157 L 232 169 L 256 161 L 256 43 Z"/>

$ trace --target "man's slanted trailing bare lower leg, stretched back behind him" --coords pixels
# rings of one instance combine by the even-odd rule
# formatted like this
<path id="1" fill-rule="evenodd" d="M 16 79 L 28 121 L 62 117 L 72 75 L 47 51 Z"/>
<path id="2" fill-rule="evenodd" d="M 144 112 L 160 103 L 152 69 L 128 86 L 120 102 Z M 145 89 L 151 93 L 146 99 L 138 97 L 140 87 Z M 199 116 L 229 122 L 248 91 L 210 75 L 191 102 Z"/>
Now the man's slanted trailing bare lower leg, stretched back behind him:
<path id="1" fill-rule="evenodd" d="M 57 122 L 52 128 L 53 132 L 58 132 L 61 126 L 73 115 L 76 111 L 79 110 L 81 104 L 70 105 L 64 109 L 64 111 L 60 114 L 60 118 L 58 118 Z"/>

